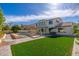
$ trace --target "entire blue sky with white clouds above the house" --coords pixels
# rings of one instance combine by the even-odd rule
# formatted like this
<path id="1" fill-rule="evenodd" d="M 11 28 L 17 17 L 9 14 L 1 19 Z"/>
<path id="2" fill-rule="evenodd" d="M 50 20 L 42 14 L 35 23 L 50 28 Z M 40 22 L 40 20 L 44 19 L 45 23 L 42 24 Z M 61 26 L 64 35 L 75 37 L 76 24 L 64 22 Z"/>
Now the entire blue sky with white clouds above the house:
<path id="1" fill-rule="evenodd" d="M 55 17 L 61 17 L 64 22 L 79 21 L 79 3 L 0 3 L 0 7 L 6 22 L 38 21 Z"/>

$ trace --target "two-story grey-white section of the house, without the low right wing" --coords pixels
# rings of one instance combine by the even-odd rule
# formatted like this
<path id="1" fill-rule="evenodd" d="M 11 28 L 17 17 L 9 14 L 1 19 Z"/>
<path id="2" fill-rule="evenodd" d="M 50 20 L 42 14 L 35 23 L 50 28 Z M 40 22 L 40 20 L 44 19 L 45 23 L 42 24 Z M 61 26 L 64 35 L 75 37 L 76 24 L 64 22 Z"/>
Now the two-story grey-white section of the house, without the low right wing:
<path id="1" fill-rule="evenodd" d="M 58 26 L 61 26 L 62 19 L 61 18 L 53 18 L 53 19 L 43 19 L 40 20 L 36 26 L 38 28 L 39 34 L 49 34 L 53 32 L 58 32 Z"/>

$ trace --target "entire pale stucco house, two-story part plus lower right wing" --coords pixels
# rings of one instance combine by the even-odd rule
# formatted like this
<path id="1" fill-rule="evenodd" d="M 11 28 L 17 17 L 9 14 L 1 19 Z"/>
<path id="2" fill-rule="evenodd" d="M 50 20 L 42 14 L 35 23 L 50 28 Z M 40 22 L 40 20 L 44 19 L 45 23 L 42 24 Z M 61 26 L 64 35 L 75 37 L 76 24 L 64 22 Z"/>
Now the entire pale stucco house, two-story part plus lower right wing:
<path id="1" fill-rule="evenodd" d="M 42 19 L 36 23 L 39 34 L 50 33 L 72 33 L 72 23 L 63 22 L 59 17 L 52 19 Z"/>

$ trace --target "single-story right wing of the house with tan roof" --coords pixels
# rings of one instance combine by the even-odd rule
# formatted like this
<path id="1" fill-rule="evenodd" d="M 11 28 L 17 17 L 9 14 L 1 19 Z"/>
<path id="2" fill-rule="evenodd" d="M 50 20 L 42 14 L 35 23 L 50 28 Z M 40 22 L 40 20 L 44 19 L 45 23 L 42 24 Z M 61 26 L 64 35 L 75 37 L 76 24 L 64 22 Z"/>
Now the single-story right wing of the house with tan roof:
<path id="1" fill-rule="evenodd" d="M 73 34 L 73 23 L 63 22 L 62 25 L 58 28 L 58 32 Z"/>

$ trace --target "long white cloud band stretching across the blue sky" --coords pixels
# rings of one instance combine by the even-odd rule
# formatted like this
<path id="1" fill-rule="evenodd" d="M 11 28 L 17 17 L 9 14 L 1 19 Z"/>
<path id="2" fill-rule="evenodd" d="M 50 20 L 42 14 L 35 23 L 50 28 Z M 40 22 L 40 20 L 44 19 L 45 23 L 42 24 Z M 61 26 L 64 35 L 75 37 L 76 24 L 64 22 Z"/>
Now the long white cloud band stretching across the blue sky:
<path id="1" fill-rule="evenodd" d="M 39 15 L 25 15 L 25 16 L 5 16 L 6 21 L 28 21 L 28 20 L 33 20 L 33 19 L 45 19 L 45 18 L 55 18 L 55 17 L 67 17 L 67 16 L 76 16 L 79 15 L 79 10 L 71 10 L 71 9 L 66 9 L 66 10 L 58 10 L 56 9 L 58 7 L 57 4 L 55 4 L 54 9 L 52 9 L 52 4 L 50 4 L 49 10 L 44 11 L 43 13 Z"/>

